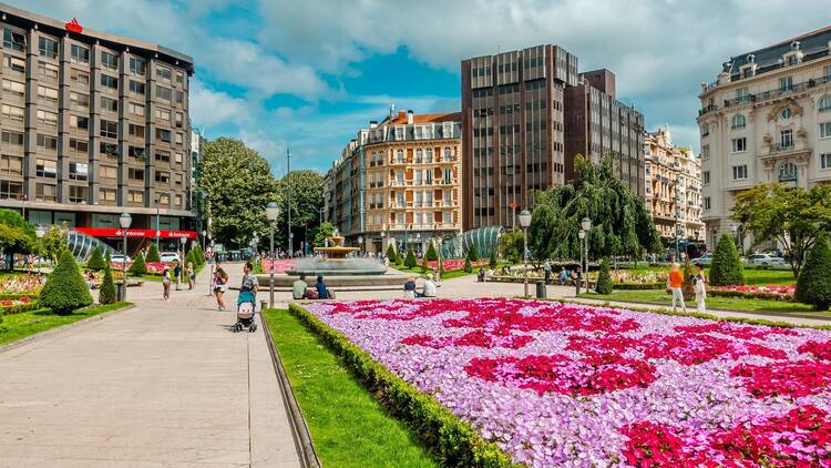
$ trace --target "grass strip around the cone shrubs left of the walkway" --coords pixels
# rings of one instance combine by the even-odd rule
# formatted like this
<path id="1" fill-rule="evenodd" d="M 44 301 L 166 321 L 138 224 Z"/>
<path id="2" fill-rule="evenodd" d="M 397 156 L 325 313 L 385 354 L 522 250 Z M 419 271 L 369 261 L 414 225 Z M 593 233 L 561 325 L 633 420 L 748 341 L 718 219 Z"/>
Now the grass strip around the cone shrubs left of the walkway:
<path id="1" fill-rule="evenodd" d="M 91 305 L 86 308 L 75 311 L 70 315 L 55 315 L 48 308 L 23 312 L 21 314 L 3 315 L 0 323 L 0 345 L 11 343 L 35 333 L 45 332 L 50 328 L 68 325 L 88 317 L 105 312 L 126 307 L 130 303 L 115 303 L 107 305 Z"/>

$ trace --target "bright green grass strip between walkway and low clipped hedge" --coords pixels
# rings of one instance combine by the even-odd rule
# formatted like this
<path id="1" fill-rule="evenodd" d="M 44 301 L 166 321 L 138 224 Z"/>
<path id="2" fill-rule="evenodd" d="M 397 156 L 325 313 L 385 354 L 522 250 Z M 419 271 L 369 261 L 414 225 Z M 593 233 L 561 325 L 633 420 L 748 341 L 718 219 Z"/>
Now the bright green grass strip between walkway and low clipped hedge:
<path id="1" fill-rule="evenodd" d="M 288 311 L 266 311 L 264 318 L 324 466 L 438 466 Z"/>

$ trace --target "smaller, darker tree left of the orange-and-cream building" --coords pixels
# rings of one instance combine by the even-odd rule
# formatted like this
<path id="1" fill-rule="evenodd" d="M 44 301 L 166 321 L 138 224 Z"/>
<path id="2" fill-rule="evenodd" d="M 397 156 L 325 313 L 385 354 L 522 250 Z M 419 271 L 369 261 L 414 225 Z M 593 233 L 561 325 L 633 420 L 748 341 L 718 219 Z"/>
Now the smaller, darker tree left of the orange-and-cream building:
<path id="1" fill-rule="evenodd" d="M 280 216 L 277 221 L 275 244 L 285 246 L 288 242 L 288 200 L 291 201 L 291 231 L 295 233 L 295 248 L 305 232 L 314 238 L 314 228 L 319 225 L 320 208 L 324 207 L 324 177 L 316 171 L 291 171 L 277 181 L 281 195 Z M 290 196 L 289 196 L 290 193 Z M 279 233 L 279 234 L 277 234 Z"/>

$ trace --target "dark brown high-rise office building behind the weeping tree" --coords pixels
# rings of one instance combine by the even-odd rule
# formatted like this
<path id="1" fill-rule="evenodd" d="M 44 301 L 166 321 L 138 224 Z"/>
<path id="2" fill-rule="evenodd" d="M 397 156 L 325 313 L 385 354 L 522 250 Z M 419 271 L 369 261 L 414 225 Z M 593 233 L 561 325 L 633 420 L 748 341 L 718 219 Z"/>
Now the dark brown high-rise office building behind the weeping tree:
<path id="1" fill-rule="evenodd" d="M 574 176 L 574 156 L 612 153 L 640 196 L 644 118 L 615 100 L 607 70 L 536 45 L 462 61 L 463 226 L 516 226 L 534 192 Z"/>

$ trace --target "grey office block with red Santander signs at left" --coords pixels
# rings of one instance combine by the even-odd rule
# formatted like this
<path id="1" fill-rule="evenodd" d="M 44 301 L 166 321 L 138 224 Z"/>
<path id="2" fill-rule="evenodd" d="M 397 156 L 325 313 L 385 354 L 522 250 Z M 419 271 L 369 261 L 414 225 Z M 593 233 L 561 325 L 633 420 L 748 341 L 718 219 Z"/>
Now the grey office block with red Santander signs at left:
<path id="1" fill-rule="evenodd" d="M 0 207 L 34 224 L 121 237 L 195 237 L 193 60 L 0 3 Z M 160 231 L 157 234 L 156 231 Z"/>

